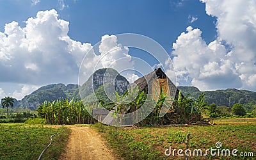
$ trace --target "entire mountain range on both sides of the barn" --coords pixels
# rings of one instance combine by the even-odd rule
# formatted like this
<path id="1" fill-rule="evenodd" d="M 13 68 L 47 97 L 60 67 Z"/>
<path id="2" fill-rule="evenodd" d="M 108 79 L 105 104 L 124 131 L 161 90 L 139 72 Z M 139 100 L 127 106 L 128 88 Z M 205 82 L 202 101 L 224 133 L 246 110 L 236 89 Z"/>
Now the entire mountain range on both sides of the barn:
<path id="1" fill-rule="evenodd" d="M 93 73 L 92 76 L 82 85 L 78 86 L 78 84 L 49 84 L 46 86 L 42 86 L 35 90 L 29 95 L 26 95 L 21 100 L 16 100 L 13 107 L 20 108 L 29 108 L 31 110 L 35 110 L 38 108 L 39 104 L 42 104 L 44 100 L 52 101 L 56 99 L 76 99 L 80 98 L 79 95 L 79 87 L 82 98 L 88 98 L 94 96 L 92 90 L 97 97 L 97 99 L 101 99 L 104 101 L 108 101 L 108 97 L 104 92 L 104 88 L 109 88 L 109 83 L 105 83 L 104 81 L 113 81 L 115 90 L 122 94 L 127 90 L 127 86 L 129 82 L 125 77 L 118 74 L 118 72 L 114 69 L 108 68 L 108 73 L 106 73 L 107 68 L 102 68 Z M 104 77 L 105 76 L 105 77 Z M 115 80 L 113 80 L 115 79 Z M 193 99 L 197 99 L 199 95 L 205 93 L 205 101 L 209 102 L 209 104 L 215 103 L 218 106 L 228 106 L 232 107 L 234 104 L 248 104 L 249 106 L 252 104 L 256 104 L 256 92 L 248 91 L 248 90 L 237 90 L 234 88 L 229 88 L 226 90 L 216 90 L 216 91 L 200 91 L 195 86 L 178 86 L 179 90 L 186 95 L 189 93 L 189 97 Z"/>

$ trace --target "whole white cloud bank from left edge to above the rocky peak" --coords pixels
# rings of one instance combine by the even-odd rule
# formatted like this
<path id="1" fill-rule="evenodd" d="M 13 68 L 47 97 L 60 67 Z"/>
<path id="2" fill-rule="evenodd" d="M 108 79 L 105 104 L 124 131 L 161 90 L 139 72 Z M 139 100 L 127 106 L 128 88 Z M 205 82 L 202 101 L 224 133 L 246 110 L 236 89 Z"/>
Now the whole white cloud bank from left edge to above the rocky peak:
<path id="1" fill-rule="evenodd" d="M 20 99 L 37 86 L 49 83 L 77 83 L 82 65 L 84 81 L 93 70 L 111 67 L 122 72 L 133 68 L 129 49 L 118 44 L 115 35 L 104 35 L 95 52 L 89 43 L 68 36 L 69 22 L 58 19 L 56 10 L 40 11 L 26 20 L 26 26 L 10 22 L 0 32 L 0 82 L 24 85 L 13 97 Z M 129 72 L 129 79 L 136 76 Z M 127 75 L 125 75 L 127 76 Z M 26 85 L 25 85 L 26 84 Z"/>

